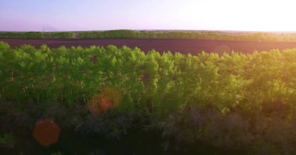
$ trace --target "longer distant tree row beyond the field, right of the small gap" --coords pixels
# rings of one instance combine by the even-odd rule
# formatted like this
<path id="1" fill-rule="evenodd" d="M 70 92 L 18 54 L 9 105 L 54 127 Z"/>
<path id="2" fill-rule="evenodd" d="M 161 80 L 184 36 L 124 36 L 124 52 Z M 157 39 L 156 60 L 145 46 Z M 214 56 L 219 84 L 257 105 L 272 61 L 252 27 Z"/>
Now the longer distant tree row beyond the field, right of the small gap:
<path id="1" fill-rule="evenodd" d="M 81 31 L 79 38 L 163 38 L 163 39 L 217 39 L 217 40 L 242 40 L 242 41 L 296 41 L 295 36 L 280 36 L 270 33 L 216 33 L 216 32 L 190 32 L 190 31 L 133 31 L 133 30 L 111 30 L 111 31 Z"/>

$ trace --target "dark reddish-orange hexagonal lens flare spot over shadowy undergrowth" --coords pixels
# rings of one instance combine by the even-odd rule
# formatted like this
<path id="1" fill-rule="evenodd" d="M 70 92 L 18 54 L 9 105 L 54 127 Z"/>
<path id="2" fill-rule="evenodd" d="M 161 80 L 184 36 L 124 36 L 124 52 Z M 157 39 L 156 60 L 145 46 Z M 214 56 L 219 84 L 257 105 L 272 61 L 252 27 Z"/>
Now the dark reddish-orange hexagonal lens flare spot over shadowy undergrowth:
<path id="1" fill-rule="evenodd" d="M 33 136 L 41 145 L 48 146 L 57 142 L 60 130 L 52 119 L 41 120 L 35 124 Z"/>

